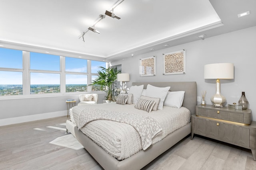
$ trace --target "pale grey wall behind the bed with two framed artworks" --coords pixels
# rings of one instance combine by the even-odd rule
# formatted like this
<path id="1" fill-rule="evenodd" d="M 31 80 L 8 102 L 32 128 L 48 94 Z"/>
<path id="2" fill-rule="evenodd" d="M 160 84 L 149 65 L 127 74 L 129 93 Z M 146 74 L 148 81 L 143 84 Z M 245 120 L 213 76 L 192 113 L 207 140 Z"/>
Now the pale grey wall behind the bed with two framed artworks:
<path id="1" fill-rule="evenodd" d="M 163 53 L 186 49 L 186 74 L 162 75 Z M 191 43 L 153 51 L 144 55 L 130 57 L 112 62 L 122 64 L 122 72 L 130 73 L 130 82 L 168 82 L 196 81 L 197 94 L 206 90 L 206 102 L 216 92 L 216 80 L 204 80 L 204 65 L 211 63 L 234 63 L 234 80 L 221 80 L 221 93 L 226 97 L 227 104 L 238 103 L 242 91 L 252 109 L 252 120 L 256 121 L 256 27 L 250 27 Z M 156 56 L 156 76 L 139 76 L 140 60 Z M 131 67 L 132 66 L 132 67 Z M 226 105 L 227 106 L 227 105 Z"/>

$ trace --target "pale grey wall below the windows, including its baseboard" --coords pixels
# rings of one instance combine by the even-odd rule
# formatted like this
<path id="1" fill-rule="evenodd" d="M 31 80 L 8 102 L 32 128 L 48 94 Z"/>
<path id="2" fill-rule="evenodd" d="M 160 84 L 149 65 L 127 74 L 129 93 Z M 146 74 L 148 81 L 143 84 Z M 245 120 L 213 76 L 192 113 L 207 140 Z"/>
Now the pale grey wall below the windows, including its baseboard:
<path id="1" fill-rule="evenodd" d="M 98 94 L 102 103 L 106 93 Z M 66 100 L 79 102 L 79 95 L 64 95 L 0 100 L 0 126 L 67 115 Z"/>

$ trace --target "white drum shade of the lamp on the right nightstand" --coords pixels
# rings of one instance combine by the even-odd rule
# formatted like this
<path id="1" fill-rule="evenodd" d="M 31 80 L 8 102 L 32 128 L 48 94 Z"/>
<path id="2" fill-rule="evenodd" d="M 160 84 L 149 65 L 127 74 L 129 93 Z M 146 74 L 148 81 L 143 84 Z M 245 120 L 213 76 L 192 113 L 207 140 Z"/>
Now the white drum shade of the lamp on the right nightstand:
<path id="1" fill-rule="evenodd" d="M 204 65 L 204 79 L 234 79 L 234 64 L 206 64 Z"/>

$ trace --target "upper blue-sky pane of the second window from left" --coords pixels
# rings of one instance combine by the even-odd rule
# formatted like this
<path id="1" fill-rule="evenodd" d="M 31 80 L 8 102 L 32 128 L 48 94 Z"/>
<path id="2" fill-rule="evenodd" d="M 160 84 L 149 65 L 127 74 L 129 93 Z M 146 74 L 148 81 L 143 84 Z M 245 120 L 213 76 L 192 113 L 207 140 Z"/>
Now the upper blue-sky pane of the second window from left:
<path id="1" fill-rule="evenodd" d="M 30 69 L 60 71 L 60 56 L 30 52 Z"/>

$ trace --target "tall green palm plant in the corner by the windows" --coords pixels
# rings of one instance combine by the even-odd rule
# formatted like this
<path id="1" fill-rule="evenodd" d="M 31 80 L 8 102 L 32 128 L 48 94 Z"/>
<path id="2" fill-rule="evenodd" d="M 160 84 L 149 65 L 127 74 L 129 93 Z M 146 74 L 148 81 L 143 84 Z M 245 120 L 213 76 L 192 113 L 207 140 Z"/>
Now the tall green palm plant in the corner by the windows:
<path id="1" fill-rule="evenodd" d="M 100 90 L 107 93 L 106 99 L 111 101 L 113 83 L 117 79 L 117 74 L 121 73 L 121 69 L 117 70 L 116 67 L 104 68 L 102 66 L 99 68 L 102 70 L 98 70 L 98 78 L 92 80 L 92 83 L 88 86 L 100 85 Z"/>

